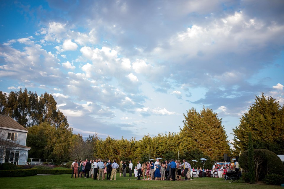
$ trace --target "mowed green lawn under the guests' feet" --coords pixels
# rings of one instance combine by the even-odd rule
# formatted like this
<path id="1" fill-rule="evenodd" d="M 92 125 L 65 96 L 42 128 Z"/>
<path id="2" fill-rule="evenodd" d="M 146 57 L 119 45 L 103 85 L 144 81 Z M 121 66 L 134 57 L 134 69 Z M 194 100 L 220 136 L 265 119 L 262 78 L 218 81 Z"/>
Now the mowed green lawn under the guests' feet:
<path id="1" fill-rule="evenodd" d="M 70 178 L 71 175 L 45 175 L 45 176 L 32 176 L 32 177 L 4 177 L 0 178 L 0 188 L 281 188 L 281 186 L 272 185 L 251 185 L 242 183 L 231 182 L 231 180 L 222 180 L 222 178 L 195 178 L 188 181 L 161 181 L 161 180 L 135 180 L 137 178 L 119 177 L 117 173 L 116 180 L 93 180 L 91 178 Z M 143 177 L 142 177 L 143 178 Z"/>

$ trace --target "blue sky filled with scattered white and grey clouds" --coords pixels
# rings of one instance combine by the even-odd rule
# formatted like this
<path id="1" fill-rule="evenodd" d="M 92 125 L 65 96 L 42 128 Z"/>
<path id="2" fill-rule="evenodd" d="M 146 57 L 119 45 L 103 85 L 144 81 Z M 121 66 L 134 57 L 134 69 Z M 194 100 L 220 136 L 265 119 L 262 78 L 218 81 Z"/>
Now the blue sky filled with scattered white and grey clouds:
<path id="1" fill-rule="evenodd" d="M 73 133 L 139 140 L 209 107 L 232 140 L 256 96 L 284 103 L 282 0 L 0 2 L 0 90 L 52 94 Z"/>

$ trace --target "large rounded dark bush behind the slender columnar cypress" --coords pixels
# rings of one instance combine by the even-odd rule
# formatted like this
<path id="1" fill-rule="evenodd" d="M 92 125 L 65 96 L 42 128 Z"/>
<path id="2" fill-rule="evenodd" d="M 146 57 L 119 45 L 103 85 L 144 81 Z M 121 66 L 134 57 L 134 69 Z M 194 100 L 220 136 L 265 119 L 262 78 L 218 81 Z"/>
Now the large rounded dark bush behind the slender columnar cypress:
<path id="1" fill-rule="evenodd" d="M 283 175 L 283 163 L 274 152 L 265 149 L 254 149 L 254 160 L 259 162 L 258 170 L 255 171 L 256 175 L 259 174 L 256 176 L 258 180 L 262 180 L 268 174 Z M 240 155 L 239 164 L 242 169 L 248 171 L 248 150 Z"/>

